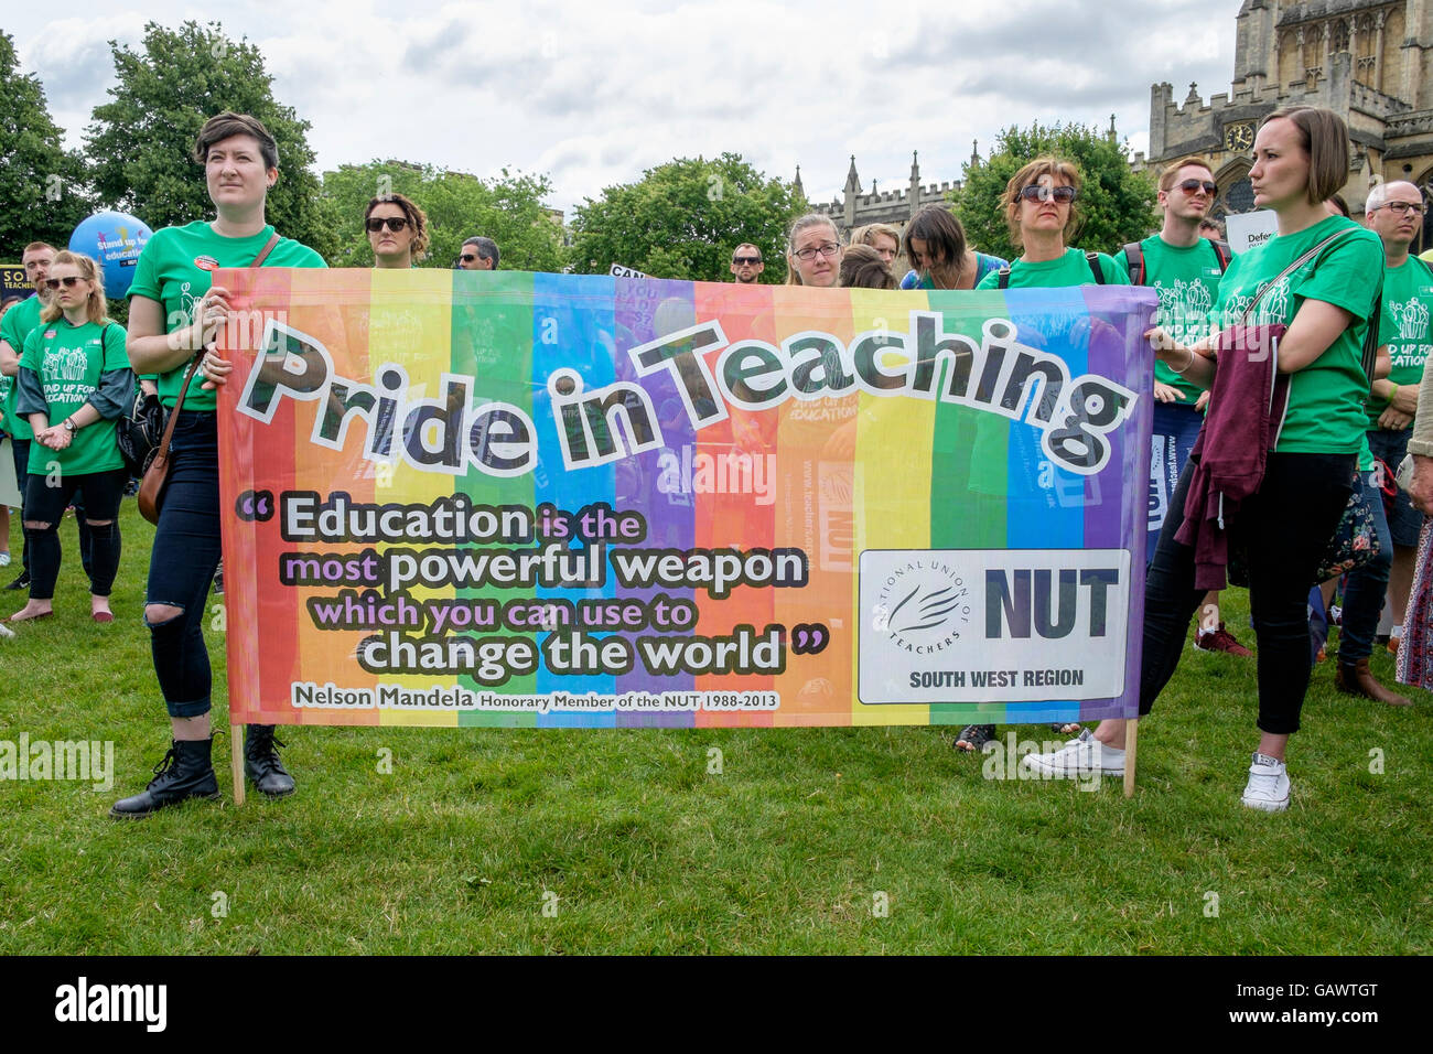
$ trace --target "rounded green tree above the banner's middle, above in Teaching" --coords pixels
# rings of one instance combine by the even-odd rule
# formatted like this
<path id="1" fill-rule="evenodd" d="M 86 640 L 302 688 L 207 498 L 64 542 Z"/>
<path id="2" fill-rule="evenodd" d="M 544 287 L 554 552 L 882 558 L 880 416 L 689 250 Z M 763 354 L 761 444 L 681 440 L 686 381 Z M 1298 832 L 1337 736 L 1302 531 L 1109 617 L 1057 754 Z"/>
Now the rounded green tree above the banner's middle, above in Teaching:
<path id="1" fill-rule="evenodd" d="M 737 245 L 749 241 L 767 261 L 778 260 L 787 224 L 804 209 L 791 185 L 768 179 L 739 153 L 678 158 L 577 206 L 573 268 L 599 274 L 625 264 L 655 278 L 729 281 Z M 772 265 L 761 275 L 782 278 L 784 268 Z"/>

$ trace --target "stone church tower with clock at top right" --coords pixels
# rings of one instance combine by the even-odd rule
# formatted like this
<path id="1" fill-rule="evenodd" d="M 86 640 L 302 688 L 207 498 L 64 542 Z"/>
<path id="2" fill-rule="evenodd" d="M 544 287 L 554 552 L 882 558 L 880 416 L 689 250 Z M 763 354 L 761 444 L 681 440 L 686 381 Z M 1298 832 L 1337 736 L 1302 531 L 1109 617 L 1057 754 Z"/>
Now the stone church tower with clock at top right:
<path id="1" fill-rule="evenodd" d="M 1250 149 L 1280 106 L 1327 106 L 1348 122 L 1353 161 L 1343 195 L 1354 215 L 1380 179 L 1433 179 L 1433 0 L 1244 0 L 1235 19 L 1232 92 L 1179 103 L 1154 85 L 1149 156 L 1158 174 L 1187 153 L 1214 163 L 1214 214 L 1254 208 Z M 1433 225 L 1433 218 L 1430 218 Z M 1423 244 L 1433 231 L 1424 229 Z"/>

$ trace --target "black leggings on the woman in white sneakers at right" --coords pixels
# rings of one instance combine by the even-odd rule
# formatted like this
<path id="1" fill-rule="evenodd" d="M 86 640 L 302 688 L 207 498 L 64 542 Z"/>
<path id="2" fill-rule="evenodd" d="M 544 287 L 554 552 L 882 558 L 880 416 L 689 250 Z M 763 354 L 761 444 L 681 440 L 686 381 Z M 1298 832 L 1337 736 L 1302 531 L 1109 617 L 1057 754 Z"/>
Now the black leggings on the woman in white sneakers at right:
<path id="1" fill-rule="evenodd" d="M 1244 502 L 1234 528 L 1248 548 L 1258 727 L 1274 736 L 1298 731 L 1311 665 L 1308 589 L 1353 493 L 1356 462 L 1351 453 L 1271 453 L 1260 492 Z M 1189 618 L 1204 598 L 1194 588 L 1194 549 L 1174 539 L 1192 470 L 1187 465 L 1179 476 L 1145 578 L 1141 714 L 1149 713 L 1179 665 Z"/>

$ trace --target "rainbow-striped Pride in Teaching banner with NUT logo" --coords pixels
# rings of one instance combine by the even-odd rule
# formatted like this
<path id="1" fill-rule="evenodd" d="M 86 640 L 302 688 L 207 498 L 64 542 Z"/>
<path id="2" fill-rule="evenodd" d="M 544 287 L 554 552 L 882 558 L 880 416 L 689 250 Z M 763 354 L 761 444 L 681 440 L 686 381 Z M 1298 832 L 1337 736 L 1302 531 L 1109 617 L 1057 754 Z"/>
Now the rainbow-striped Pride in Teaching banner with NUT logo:
<path id="1" fill-rule="evenodd" d="M 1148 290 L 215 284 L 234 723 L 1136 711 Z"/>

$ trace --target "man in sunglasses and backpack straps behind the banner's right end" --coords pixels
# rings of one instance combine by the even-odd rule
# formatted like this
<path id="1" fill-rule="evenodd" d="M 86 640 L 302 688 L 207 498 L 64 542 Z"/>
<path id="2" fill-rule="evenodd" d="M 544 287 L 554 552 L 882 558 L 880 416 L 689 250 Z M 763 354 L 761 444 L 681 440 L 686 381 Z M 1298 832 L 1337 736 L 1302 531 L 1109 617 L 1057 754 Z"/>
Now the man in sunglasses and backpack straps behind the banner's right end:
<path id="1" fill-rule="evenodd" d="M 1159 176 L 1164 222 L 1156 234 L 1129 242 L 1115 262 L 1131 285 L 1148 285 L 1159 294 L 1155 321 L 1181 344 L 1194 344 L 1208 330 L 1209 310 L 1219 298 L 1219 278 L 1230 265 L 1230 247 L 1202 237 L 1217 192 L 1214 172 L 1204 158 L 1182 158 Z M 1154 449 L 1149 463 L 1149 538 L 1145 559 L 1152 559 L 1159 531 L 1179 473 L 1204 423 L 1205 391 L 1165 363 L 1155 361 Z M 1195 647 L 1230 655 L 1251 655 L 1219 621 L 1219 595 L 1204 599 Z"/>

